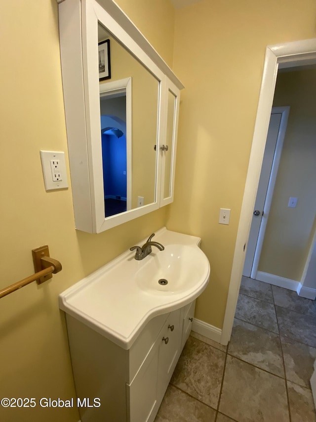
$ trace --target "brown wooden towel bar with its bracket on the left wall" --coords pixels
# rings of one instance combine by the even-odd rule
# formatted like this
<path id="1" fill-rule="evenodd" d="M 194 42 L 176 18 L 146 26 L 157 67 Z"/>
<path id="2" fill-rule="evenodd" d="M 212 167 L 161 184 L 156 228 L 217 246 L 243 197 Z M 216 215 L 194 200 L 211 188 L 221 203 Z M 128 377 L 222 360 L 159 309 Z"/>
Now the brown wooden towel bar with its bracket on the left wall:
<path id="1" fill-rule="evenodd" d="M 54 258 L 50 258 L 47 245 L 32 249 L 32 255 L 35 274 L 0 290 L 0 298 L 33 281 L 37 281 L 38 284 L 41 284 L 44 281 L 51 279 L 53 274 L 59 273 L 59 271 L 62 270 L 61 263 Z"/>

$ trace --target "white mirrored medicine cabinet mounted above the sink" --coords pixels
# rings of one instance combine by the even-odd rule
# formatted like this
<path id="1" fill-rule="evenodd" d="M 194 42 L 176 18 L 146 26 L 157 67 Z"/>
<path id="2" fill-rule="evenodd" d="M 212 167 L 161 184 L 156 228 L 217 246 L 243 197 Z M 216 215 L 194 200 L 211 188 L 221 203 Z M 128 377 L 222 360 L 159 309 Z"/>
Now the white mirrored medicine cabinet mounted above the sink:
<path id="1" fill-rule="evenodd" d="M 59 30 L 76 229 L 173 201 L 181 82 L 112 0 L 64 0 Z"/>

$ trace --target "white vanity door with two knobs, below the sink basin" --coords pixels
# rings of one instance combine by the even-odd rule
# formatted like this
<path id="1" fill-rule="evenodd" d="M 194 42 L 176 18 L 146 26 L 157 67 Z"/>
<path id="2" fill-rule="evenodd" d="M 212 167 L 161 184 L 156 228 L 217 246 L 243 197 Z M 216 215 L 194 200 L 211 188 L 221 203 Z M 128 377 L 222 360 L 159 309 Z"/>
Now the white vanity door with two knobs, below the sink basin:
<path id="1" fill-rule="evenodd" d="M 180 356 L 181 309 L 171 312 L 160 333 L 158 397 L 163 397 Z"/>

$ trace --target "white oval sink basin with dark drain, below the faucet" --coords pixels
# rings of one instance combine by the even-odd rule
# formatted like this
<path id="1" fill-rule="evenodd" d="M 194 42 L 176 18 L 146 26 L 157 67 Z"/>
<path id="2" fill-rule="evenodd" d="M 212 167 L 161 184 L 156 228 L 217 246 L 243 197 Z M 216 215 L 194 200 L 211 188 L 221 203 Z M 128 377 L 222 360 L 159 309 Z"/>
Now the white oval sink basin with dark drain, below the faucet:
<path id="1" fill-rule="evenodd" d="M 150 294 L 185 293 L 194 289 L 203 277 L 205 255 L 196 246 L 171 244 L 152 255 L 148 261 L 144 259 L 134 277 L 137 286 Z"/>

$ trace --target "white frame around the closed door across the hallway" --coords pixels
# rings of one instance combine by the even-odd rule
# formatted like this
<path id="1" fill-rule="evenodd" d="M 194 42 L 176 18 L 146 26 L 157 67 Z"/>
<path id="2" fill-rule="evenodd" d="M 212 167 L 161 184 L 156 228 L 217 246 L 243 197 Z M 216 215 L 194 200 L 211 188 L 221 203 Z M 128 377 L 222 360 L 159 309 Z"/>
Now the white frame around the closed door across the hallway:
<path id="1" fill-rule="evenodd" d="M 282 153 L 282 148 L 283 148 L 283 141 L 284 141 L 284 137 L 285 137 L 289 111 L 290 111 L 289 106 L 272 107 L 272 111 L 271 111 L 271 116 L 272 116 L 272 114 L 281 114 L 281 119 L 280 119 L 279 129 L 278 129 L 278 132 L 277 132 L 276 139 L 273 138 L 274 142 L 271 144 L 271 147 L 273 147 L 273 149 L 274 149 L 273 157 L 270 158 L 270 154 L 268 154 L 268 156 L 269 156 L 269 168 L 266 169 L 266 172 L 265 172 L 264 175 L 262 174 L 262 171 L 261 171 L 261 174 L 260 174 L 259 186 L 262 183 L 262 178 L 263 178 L 265 198 L 261 199 L 261 200 L 264 200 L 264 205 L 263 205 L 262 209 L 257 208 L 257 204 L 255 205 L 256 209 L 258 209 L 258 210 L 260 210 L 260 212 L 262 212 L 259 232 L 258 232 L 258 226 L 255 227 L 253 225 L 254 218 L 258 218 L 258 217 L 252 217 L 252 224 L 251 224 L 250 235 L 249 235 L 249 239 L 248 239 L 248 246 L 247 246 L 247 252 L 246 252 L 246 262 L 248 262 L 247 273 L 248 274 L 250 273 L 250 277 L 252 279 L 255 279 L 256 275 L 257 275 L 260 254 L 261 254 L 261 250 L 262 250 L 263 240 L 264 240 L 264 237 L 265 237 L 267 222 L 268 222 L 271 203 L 272 203 L 273 192 L 274 192 L 274 188 L 275 188 L 275 185 L 276 185 L 276 176 L 277 176 L 278 166 L 279 166 L 279 163 L 280 163 L 280 158 L 281 158 L 281 153 Z M 268 134 L 268 138 L 269 138 L 269 134 Z M 266 152 L 265 152 L 265 156 L 266 156 Z M 268 174 L 268 172 L 269 172 L 269 174 Z M 258 188 L 258 192 L 257 192 L 257 196 L 256 196 L 256 203 L 258 203 L 258 193 L 259 193 L 259 188 Z M 252 247 L 250 248 L 250 246 L 249 246 L 250 245 L 250 236 L 251 236 L 252 233 L 253 233 L 253 236 L 256 236 L 256 243 L 254 244 L 254 241 L 255 241 L 254 240 L 252 242 Z M 252 249 L 252 250 L 250 250 L 250 249 Z M 251 263 L 250 263 L 250 261 L 251 261 Z M 245 265 L 246 264 L 244 264 L 244 266 Z M 251 265 L 251 270 L 250 270 L 250 265 Z"/>

